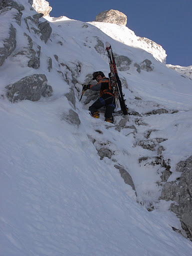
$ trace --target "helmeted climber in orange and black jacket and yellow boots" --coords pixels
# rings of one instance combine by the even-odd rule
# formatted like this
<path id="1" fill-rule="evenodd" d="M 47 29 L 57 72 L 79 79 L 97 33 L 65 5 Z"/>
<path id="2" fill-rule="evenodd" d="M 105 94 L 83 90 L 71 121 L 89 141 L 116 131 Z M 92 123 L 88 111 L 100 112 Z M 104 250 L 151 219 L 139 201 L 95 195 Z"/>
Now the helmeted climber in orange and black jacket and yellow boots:
<path id="1" fill-rule="evenodd" d="M 88 110 L 90 111 L 90 114 L 94 118 L 99 117 L 99 111 L 98 109 L 102 106 L 105 106 L 105 121 L 107 122 L 113 122 L 113 116 L 112 112 L 115 108 L 115 101 L 114 101 L 114 95 L 113 91 L 109 82 L 109 79 L 105 77 L 104 73 L 102 71 L 96 71 L 92 74 L 92 80 L 97 81 L 97 84 L 84 84 L 82 87 L 82 90 L 85 91 L 87 89 L 90 90 L 99 90 L 99 98 L 91 105 L 89 106 Z"/>

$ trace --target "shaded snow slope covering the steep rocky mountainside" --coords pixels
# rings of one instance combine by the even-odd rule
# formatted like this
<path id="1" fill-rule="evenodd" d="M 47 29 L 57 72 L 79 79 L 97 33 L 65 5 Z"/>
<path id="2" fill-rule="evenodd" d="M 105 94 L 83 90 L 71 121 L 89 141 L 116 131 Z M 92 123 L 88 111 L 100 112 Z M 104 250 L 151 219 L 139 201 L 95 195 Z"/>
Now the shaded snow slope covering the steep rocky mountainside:
<path id="1" fill-rule="evenodd" d="M 20 2 L 27 6 L 22 18 L 35 13 L 24 0 Z M 111 24 L 101 25 L 106 30 Z M 138 163 L 139 157 L 153 156 L 155 152 L 137 145 L 149 129 L 154 130 L 151 137 L 166 138 L 162 142 L 163 154 L 171 160 L 175 175 L 175 164 L 191 154 L 191 80 L 167 68 L 144 49 L 122 43 L 123 33 L 121 40 L 115 40 L 93 24 L 67 19 L 54 19 L 51 27 L 51 40 L 46 44 L 33 32 L 30 34 L 41 46 L 39 69 L 26 67 L 24 56 L 10 56 L 0 67 L 0 94 L 5 94 L 7 84 L 34 72 L 44 73 L 53 88 L 50 98 L 41 97 L 37 102 L 13 104 L 5 96 L 0 97 L 0 254 L 191 255 L 191 242 L 172 230 L 172 226 L 180 228 L 178 218 L 168 211 L 169 203 L 158 200 L 159 167 Z M 113 25 L 116 37 L 118 29 Z M 28 33 L 24 22 L 17 31 Z M 106 124 L 102 112 L 98 120 L 90 117 L 90 103 L 83 104 L 84 96 L 82 102 L 78 101 L 87 74 L 95 70 L 109 72 L 104 50 L 95 50 L 99 41 L 109 41 L 116 54 L 133 61 L 130 69 L 119 71 L 119 75 L 128 84 L 128 88 L 123 87 L 127 106 L 141 114 L 131 115 L 127 122 L 136 127 L 135 134 L 130 128 L 120 132 L 115 129 L 122 116 L 115 116 L 114 124 Z M 22 45 L 19 36 L 15 52 Z M 47 56 L 53 61 L 50 72 Z M 146 58 L 151 60 L 153 71 L 138 73 L 133 63 Z M 66 66 L 58 67 L 58 62 L 76 72 L 75 86 Z M 80 63 L 78 72 L 76 63 Z M 68 83 L 58 70 L 68 74 Z M 75 90 L 75 109 L 65 96 L 70 87 Z M 144 115 L 160 107 L 178 112 Z M 63 118 L 69 109 L 77 112 L 79 126 Z M 100 144 L 109 146 L 111 159 L 100 160 L 96 150 Z M 137 198 L 115 163 L 131 174 Z M 146 207 L 150 203 L 155 209 L 149 212 Z"/>

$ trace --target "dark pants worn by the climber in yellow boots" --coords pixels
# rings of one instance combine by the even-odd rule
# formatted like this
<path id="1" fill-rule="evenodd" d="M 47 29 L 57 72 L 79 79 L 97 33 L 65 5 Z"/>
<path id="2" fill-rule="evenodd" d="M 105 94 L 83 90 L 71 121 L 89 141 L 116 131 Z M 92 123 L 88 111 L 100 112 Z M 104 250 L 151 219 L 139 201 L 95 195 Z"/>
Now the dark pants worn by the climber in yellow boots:
<path id="1" fill-rule="evenodd" d="M 112 112 L 115 108 L 114 97 L 108 93 L 105 93 L 102 95 L 102 97 L 99 97 L 91 106 L 89 106 L 88 110 L 91 114 L 93 114 L 102 106 L 106 107 L 104 113 L 105 119 L 107 119 L 108 117 L 112 117 Z"/>

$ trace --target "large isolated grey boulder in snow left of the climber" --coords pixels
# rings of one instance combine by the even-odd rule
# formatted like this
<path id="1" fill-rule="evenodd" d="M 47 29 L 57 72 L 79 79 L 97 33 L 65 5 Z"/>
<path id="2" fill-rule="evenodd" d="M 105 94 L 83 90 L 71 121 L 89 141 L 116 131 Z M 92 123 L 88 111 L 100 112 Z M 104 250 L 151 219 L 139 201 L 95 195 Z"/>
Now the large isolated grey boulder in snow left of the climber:
<path id="1" fill-rule="evenodd" d="M 47 89 L 47 79 L 44 74 L 25 76 L 12 85 L 6 86 L 7 97 L 10 101 L 28 99 L 36 101 Z"/>

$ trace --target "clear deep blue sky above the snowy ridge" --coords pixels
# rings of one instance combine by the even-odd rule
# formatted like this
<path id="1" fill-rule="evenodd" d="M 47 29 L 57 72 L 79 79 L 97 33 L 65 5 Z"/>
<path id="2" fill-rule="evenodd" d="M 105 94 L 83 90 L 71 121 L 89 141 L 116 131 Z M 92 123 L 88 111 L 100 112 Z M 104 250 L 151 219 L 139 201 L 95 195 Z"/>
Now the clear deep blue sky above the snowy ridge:
<path id="1" fill-rule="evenodd" d="M 93 21 L 104 10 L 127 16 L 126 26 L 166 50 L 166 63 L 192 65 L 192 0 L 47 0 L 52 17 Z"/>

